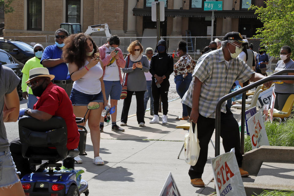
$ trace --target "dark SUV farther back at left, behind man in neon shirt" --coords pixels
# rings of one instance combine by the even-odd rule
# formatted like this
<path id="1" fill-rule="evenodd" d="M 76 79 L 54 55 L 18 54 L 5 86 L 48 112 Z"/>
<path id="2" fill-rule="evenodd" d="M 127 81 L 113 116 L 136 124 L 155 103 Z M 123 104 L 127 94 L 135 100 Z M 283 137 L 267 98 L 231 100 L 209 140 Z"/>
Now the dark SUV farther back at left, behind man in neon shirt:
<path id="1" fill-rule="evenodd" d="M 5 50 L 23 64 L 35 56 L 33 47 L 20 40 L 0 40 L 0 49 Z"/>

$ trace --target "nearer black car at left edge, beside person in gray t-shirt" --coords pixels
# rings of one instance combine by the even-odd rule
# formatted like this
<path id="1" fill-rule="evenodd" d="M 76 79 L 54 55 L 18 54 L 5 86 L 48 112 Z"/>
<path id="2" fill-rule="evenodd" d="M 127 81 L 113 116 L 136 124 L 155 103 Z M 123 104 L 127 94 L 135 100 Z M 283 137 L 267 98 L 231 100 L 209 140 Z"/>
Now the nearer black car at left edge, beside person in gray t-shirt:
<path id="1" fill-rule="evenodd" d="M 13 56 L 9 55 L 8 52 L 0 49 L 0 62 L 2 63 L 2 66 L 7 66 L 11 68 L 14 73 L 22 79 L 22 68 L 24 67 L 24 64 L 17 61 Z M 19 100 L 22 100 L 22 90 L 21 90 L 21 81 L 19 82 L 19 85 L 17 85 L 17 94 L 19 96 Z"/>

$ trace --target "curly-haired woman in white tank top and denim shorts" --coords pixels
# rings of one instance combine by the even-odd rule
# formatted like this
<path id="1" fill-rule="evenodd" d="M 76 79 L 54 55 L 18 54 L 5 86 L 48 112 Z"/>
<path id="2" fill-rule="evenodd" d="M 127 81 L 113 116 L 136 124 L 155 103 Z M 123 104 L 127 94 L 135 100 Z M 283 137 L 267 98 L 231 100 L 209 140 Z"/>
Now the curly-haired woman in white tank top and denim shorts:
<path id="1" fill-rule="evenodd" d="M 88 111 L 86 121 L 88 120 L 93 143 L 93 163 L 103 165 L 104 161 L 99 156 L 100 116 L 102 109 L 107 104 L 102 77 L 103 63 L 94 55 L 97 51 L 97 46 L 90 36 L 84 33 L 72 34 L 64 42 L 62 57 L 69 63 L 70 77 L 74 81 L 70 94 L 74 115 L 84 117 L 87 105 L 91 101 L 96 101 L 100 104 L 98 109 Z M 85 123 L 81 123 L 81 125 L 85 126 Z"/>

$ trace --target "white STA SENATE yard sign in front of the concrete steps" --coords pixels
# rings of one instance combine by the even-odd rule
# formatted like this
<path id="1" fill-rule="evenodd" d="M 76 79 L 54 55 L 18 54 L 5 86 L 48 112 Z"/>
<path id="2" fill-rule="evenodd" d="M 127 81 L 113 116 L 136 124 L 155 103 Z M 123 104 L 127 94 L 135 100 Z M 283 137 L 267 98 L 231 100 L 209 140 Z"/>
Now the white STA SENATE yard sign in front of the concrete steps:
<path id="1" fill-rule="evenodd" d="M 211 159 L 217 196 L 246 196 L 235 149 Z"/>

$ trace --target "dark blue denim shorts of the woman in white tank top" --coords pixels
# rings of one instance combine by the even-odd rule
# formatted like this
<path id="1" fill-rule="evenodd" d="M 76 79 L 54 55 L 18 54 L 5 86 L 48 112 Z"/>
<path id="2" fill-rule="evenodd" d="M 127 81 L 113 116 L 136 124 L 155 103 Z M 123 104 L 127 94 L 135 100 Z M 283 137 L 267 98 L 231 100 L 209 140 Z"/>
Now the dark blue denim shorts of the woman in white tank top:
<path id="1" fill-rule="evenodd" d="M 70 93 L 70 100 L 74 106 L 86 106 L 91 101 L 96 101 L 98 103 L 103 103 L 103 94 L 102 91 L 98 94 L 89 95 L 83 92 L 80 92 L 76 89 L 72 89 Z"/>

